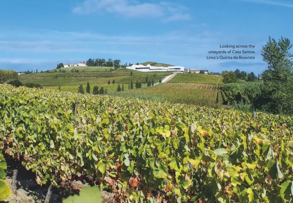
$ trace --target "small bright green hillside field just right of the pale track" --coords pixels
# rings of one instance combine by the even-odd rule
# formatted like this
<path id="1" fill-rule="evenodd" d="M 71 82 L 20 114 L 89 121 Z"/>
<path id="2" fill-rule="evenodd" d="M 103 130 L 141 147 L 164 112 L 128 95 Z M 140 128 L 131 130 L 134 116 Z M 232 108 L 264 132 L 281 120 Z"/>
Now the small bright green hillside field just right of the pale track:
<path id="1" fill-rule="evenodd" d="M 218 80 L 220 79 L 219 83 Z M 184 73 L 176 74 L 169 83 L 200 83 L 200 84 L 211 84 L 211 85 L 223 85 L 223 78 L 212 75 L 204 75 L 198 73 Z"/>

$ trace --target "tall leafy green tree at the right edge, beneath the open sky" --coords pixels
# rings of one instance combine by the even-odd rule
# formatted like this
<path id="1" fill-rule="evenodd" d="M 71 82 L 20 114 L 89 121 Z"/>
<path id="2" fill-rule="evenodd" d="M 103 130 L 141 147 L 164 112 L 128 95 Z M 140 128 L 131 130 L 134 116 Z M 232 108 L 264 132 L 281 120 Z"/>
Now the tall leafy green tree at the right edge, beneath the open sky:
<path id="1" fill-rule="evenodd" d="M 263 88 L 255 107 L 277 114 L 293 115 L 293 54 L 289 50 L 292 44 L 288 38 L 277 42 L 269 36 L 262 47 L 261 56 L 268 68 L 261 78 Z"/>

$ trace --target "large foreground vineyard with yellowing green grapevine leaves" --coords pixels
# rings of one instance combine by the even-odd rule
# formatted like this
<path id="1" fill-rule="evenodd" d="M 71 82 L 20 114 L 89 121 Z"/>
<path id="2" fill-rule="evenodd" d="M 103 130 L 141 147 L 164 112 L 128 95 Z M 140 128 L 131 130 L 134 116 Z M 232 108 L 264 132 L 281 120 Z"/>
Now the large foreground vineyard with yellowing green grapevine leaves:
<path id="1" fill-rule="evenodd" d="M 293 200 L 292 117 L 4 84 L 0 121 L 0 148 L 38 184 L 84 177 L 116 202 Z"/>

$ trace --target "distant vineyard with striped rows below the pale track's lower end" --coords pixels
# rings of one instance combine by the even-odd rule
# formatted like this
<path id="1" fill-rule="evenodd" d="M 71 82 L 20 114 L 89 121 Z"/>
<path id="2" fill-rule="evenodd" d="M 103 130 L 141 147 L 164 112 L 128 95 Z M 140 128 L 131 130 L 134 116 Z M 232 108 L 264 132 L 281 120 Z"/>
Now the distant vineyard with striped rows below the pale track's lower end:
<path id="1" fill-rule="evenodd" d="M 218 88 L 208 84 L 163 83 L 152 88 L 117 93 L 117 96 L 151 101 L 221 106 L 218 103 Z"/>

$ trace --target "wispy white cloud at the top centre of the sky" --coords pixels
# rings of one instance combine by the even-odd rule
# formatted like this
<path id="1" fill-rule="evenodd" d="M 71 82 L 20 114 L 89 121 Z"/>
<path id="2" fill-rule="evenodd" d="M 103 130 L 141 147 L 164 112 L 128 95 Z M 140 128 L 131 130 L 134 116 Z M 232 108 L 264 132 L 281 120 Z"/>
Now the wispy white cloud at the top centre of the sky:
<path id="1" fill-rule="evenodd" d="M 191 19 L 189 14 L 182 14 L 183 11 L 187 11 L 187 7 L 171 1 L 147 3 L 136 0 L 85 0 L 73 9 L 73 12 L 78 14 L 101 13 L 102 11 L 125 17 L 162 17 L 169 19 L 164 20 L 165 22 Z"/>

